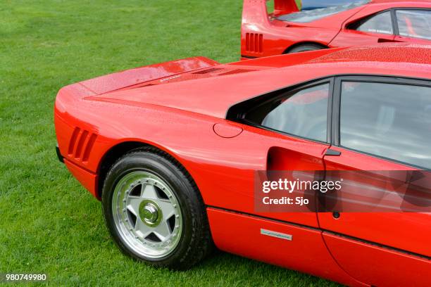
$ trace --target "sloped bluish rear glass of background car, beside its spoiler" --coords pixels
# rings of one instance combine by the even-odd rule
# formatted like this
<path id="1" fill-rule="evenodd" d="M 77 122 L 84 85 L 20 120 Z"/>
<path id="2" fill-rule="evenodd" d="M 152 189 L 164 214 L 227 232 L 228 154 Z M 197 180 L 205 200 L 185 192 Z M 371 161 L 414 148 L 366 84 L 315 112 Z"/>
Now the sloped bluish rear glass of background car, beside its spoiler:
<path id="1" fill-rule="evenodd" d="M 321 18 L 325 18 L 330 15 L 337 14 L 342 11 L 347 11 L 356 7 L 363 6 L 365 4 L 368 4 L 369 2 L 370 0 L 359 0 L 359 1 L 354 1 L 354 3 L 350 3 L 350 4 L 330 6 L 326 8 L 318 8 L 313 10 L 303 10 L 296 13 L 281 15 L 280 17 L 277 17 L 277 20 L 296 22 L 296 23 L 307 23 Z"/>

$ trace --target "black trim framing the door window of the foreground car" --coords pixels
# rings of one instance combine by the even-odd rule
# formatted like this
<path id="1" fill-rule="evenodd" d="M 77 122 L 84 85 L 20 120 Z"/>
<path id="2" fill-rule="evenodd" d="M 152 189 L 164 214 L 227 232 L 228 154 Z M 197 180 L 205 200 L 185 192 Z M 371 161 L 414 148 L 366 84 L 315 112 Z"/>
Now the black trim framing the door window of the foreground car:
<path id="1" fill-rule="evenodd" d="M 430 79 L 418 79 L 412 77 L 396 77 L 396 76 L 378 76 L 378 75 L 339 75 L 335 77 L 334 82 L 334 93 L 332 95 L 332 141 L 331 146 L 337 146 L 343 148 L 346 151 L 354 151 L 363 155 L 368 155 L 373 158 L 379 158 L 381 160 L 387 160 L 389 162 L 399 163 L 401 165 L 406 165 L 407 167 L 418 168 L 420 170 L 430 170 L 427 167 L 421 167 L 418 165 L 412 165 L 408 162 L 402 162 L 399 160 L 394 160 L 392 158 L 385 158 L 380 155 L 375 155 L 373 153 L 366 153 L 364 151 L 358 151 L 354 148 L 347 148 L 342 146 L 339 141 L 340 134 L 340 108 L 341 108 L 341 88 L 342 82 L 377 82 L 382 84 L 404 84 L 410 86 L 420 86 L 420 87 L 430 87 Z"/>

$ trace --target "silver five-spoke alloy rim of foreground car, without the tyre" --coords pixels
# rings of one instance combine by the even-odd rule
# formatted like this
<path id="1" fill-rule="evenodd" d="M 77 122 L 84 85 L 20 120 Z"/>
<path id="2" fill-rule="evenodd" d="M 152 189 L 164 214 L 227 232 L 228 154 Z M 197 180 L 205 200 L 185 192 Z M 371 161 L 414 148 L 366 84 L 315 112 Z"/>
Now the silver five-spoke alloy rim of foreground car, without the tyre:
<path id="1" fill-rule="evenodd" d="M 115 186 L 115 225 L 135 252 L 146 257 L 171 253 L 182 232 L 181 208 L 163 179 L 149 172 L 131 172 Z"/>

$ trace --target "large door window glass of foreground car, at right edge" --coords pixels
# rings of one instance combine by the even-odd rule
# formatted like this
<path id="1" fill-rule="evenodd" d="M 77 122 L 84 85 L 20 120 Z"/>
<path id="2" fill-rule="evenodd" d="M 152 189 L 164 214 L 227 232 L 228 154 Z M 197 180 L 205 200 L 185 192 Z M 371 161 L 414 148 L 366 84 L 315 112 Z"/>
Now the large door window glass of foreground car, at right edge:
<path id="1" fill-rule="evenodd" d="M 340 145 L 431 168 L 431 87 L 342 82 Z"/>

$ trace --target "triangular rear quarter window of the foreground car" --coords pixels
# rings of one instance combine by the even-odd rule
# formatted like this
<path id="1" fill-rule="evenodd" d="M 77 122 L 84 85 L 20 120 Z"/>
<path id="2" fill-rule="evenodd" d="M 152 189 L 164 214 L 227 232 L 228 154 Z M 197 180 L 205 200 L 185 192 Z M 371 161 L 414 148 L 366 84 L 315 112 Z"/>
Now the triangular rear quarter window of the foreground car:
<path id="1" fill-rule="evenodd" d="M 287 92 L 246 113 L 256 125 L 316 141 L 326 141 L 330 84 Z"/>

